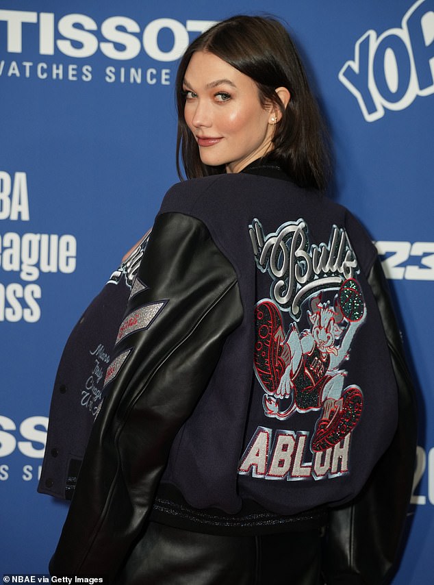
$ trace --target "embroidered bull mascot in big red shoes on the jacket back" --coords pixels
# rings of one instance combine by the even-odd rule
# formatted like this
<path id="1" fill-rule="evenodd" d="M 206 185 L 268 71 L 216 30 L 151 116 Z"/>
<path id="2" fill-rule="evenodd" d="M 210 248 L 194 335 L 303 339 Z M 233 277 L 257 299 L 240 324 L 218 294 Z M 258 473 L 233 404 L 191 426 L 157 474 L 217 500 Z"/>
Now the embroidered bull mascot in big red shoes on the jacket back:
<path id="1" fill-rule="evenodd" d="M 341 288 L 346 286 L 347 281 Z M 322 433 L 330 425 L 340 428 L 340 432 L 333 434 L 333 445 L 344 438 L 342 430 L 350 432 L 360 418 L 361 391 L 357 390 L 357 408 L 354 399 L 344 400 L 346 371 L 338 368 L 348 359 L 351 340 L 366 314 L 362 302 L 363 313 L 356 311 L 357 320 L 345 317 L 337 296 L 333 306 L 329 301 L 321 303 L 321 295 L 310 299 L 307 314 L 311 327 L 301 333 L 294 322 L 288 332 L 285 331 L 281 313 L 272 301 L 260 301 L 255 310 L 254 366 L 257 379 L 265 390 L 263 406 L 266 416 L 285 420 L 293 412 L 322 408 L 322 416 L 328 421 L 322 425 Z M 287 402 L 288 408 L 281 410 L 281 403 Z M 315 443 L 314 438 L 313 445 Z"/>

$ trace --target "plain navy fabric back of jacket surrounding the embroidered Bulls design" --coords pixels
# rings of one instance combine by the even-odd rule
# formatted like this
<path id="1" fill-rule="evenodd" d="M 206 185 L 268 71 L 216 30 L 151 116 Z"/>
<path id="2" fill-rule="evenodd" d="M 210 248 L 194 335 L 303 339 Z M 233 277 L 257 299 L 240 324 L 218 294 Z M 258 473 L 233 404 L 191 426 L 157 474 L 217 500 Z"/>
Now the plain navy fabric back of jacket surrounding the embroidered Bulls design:
<path id="1" fill-rule="evenodd" d="M 166 212 L 190 214 L 205 223 L 238 275 L 244 319 L 228 338 L 203 398 L 175 440 L 163 484 L 175 486 L 193 508 L 215 507 L 229 514 L 240 511 L 243 498 L 277 514 L 297 514 L 352 499 L 396 428 L 396 382 L 376 301 L 366 280 L 376 259 L 368 234 L 346 208 L 318 192 L 303 190 L 288 180 L 244 173 L 178 184 L 164 198 L 160 213 Z M 303 219 L 309 229 L 309 245 L 327 244 L 336 225 L 346 230 L 357 256 L 357 280 L 368 316 L 355 335 L 344 368 L 348 371 L 345 385 L 359 385 L 364 404 L 351 439 L 349 473 L 337 473 L 339 477 L 315 480 L 311 475 L 303 481 L 276 481 L 251 473 L 237 475 L 242 453 L 257 427 L 266 426 L 272 432 L 296 433 L 306 428 L 314 432 L 318 419 L 318 412 L 294 412 L 287 421 L 264 416 L 264 390 L 253 371 L 254 308 L 257 301 L 270 296 L 270 277 L 255 265 L 248 233 L 255 218 L 266 234 L 276 232 L 285 222 Z M 300 330 L 308 327 L 306 313 Z M 283 319 L 289 327 L 288 313 Z"/>

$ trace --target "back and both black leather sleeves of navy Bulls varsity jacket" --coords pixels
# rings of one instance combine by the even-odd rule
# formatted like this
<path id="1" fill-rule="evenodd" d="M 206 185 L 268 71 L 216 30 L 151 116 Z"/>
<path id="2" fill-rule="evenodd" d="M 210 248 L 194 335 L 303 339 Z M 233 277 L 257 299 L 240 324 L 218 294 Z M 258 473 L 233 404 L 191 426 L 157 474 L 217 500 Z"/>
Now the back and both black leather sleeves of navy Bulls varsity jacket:
<path id="1" fill-rule="evenodd" d="M 149 517 L 261 534 L 325 510 L 328 584 L 392 571 L 414 398 L 376 251 L 342 206 L 272 164 L 175 185 L 103 393 L 51 573 L 114 578 Z"/>

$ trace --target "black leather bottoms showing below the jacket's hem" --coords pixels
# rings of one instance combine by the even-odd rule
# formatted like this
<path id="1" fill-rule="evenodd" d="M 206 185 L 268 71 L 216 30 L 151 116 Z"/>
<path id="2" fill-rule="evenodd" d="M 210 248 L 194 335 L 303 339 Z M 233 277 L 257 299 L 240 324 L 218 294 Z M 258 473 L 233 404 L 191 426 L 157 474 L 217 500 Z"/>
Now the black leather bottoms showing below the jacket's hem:
<path id="1" fill-rule="evenodd" d="M 216 536 L 149 522 L 117 585 L 318 585 L 320 530 Z"/>

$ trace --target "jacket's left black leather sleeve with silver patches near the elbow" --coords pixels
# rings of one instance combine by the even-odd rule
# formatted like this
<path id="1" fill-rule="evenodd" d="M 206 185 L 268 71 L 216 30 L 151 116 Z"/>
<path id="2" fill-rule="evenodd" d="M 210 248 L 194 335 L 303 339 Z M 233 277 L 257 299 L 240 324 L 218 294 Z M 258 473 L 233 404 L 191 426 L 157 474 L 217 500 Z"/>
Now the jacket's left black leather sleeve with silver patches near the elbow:
<path id="1" fill-rule="evenodd" d="M 94 423 L 51 559 L 55 575 L 114 577 L 144 524 L 173 438 L 242 320 L 233 266 L 191 216 L 157 217 L 137 278 L 112 364 L 127 359 Z"/>

